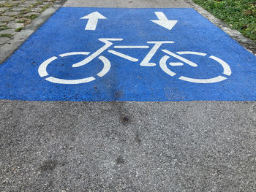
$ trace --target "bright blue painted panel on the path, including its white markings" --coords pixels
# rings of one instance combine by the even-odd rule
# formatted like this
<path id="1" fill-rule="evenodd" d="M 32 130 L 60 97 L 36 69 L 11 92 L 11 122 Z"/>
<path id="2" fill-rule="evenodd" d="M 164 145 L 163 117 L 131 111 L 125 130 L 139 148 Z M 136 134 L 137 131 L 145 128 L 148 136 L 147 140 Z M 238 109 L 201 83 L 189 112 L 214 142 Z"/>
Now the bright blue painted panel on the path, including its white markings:
<path id="1" fill-rule="evenodd" d="M 0 99 L 256 99 L 255 55 L 187 8 L 61 8 L 0 74 Z"/>

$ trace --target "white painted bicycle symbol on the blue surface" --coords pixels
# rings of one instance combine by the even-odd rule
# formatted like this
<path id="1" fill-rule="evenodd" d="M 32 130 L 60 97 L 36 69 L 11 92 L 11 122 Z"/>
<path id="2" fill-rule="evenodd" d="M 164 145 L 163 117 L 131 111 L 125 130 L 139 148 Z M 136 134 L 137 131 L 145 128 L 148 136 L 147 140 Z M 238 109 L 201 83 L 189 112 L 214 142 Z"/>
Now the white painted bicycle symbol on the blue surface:
<path id="1" fill-rule="evenodd" d="M 108 47 L 110 47 L 111 45 L 113 45 L 114 41 L 122 41 L 123 39 L 113 39 L 113 38 L 101 38 L 99 39 L 100 42 L 104 42 L 105 45 L 101 48 L 99 48 L 99 50 L 97 50 L 95 53 L 92 53 L 91 55 L 89 55 L 89 52 L 71 52 L 71 53 L 64 53 L 59 55 L 59 57 L 63 58 L 63 57 L 67 57 L 70 55 L 89 55 L 88 57 L 86 57 L 85 59 L 83 59 L 83 61 L 80 61 L 76 64 L 72 64 L 72 67 L 79 67 L 79 66 L 83 66 L 86 64 L 89 64 L 90 61 L 92 61 L 94 58 L 99 58 L 100 61 L 102 61 L 103 63 L 103 69 L 97 73 L 98 77 L 103 77 L 105 74 L 107 74 L 110 70 L 111 64 L 110 61 L 108 60 L 108 58 L 105 58 L 104 56 L 101 55 L 101 53 L 103 53 L 105 50 L 108 49 Z M 149 61 L 151 60 L 151 58 L 153 58 L 154 54 L 157 53 L 157 50 L 159 50 L 159 47 L 161 47 L 162 44 L 171 44 L 174 43 L 172 41 L 156 41 L 156 42 L 147 42 L 148 44 L 154 44 L 154 46 L 151 48 L 151 50 L 149 50 L 148 54 L 146 55 L 146 57 L 143 59 L 143 61 L 141 61 L 140 66 L 156 66 L 156 64 L 154 63 L 149 63 Z M 148 49 L 148 46 L 114 46 L 114 48 L 116 49 Z M 125 55 L 123 53 L 119 53 L 115 50 L 108 50 L 109 53 L 112 53 L 113 55 L 117 55 L 121 58 L 125 58 L 129 61 L 133 61 L 133 62 L 137 62 L 138 59 L 137 58 L 133 58 L 129 55 Z M 197 67 L 197 64 L 195 64 L 192 61 L 187 60 L 186 58 L 181 57 L 180 55 L 201 55 L 203 57 L 206 56 L 206 53 L 199 53 L 199 52 L 195 52 L 195 51 L 179 51 L 176 53 L 172 53 L 169 50 L 162 50 L 162 52 L 166 53 L 167 55 L 163 56 L 160 61 L 159 61 L 159 66 L 160 68 L 167 74 L 169 74 L 170 76 L 175 76 L 176 73 L 171 71 L 170 69 L 167 68 L 167 59 L 170 58 L 170 56 L 177 58 L 178 60 L 182 61 L 182 62 L 175 62 L 175 63 L 169 63 L 170 66 L 182 66 L 185 64 L 189 64 L 189 66 L 193 66 L 193 67 Z M 47 67 L 48 65 L 56 60 L 58 57 L 53 56 L 51 58 L 48 58 L 48 60 L 44 61 L 42 64 L 40 64 L 39 69 L 38 69 L 38 73 L 40 77 L 46 77 L 49 76 L 48 72 L 47 72 Z M 222 65 L 223 68 L 223 72 L 222 74 L 225 74 L 227 76 L 231 75 L 231 70 L 230 70 L 230 66 L 225 63 L 225 61 L 222 61 L 222 59 L 217 58 L 216 56 L 209 56 L 209 58 L 213 59 L 214 61 L 217 61 L 217 63 L 219 63 L 220 65 Z M 184 77 L 184 76 L 180 76 L 178 77 L 179 80 L 184 80 L 187 82 L 195 82 L 195 83 L 213 83 L 213 82 L 220 82 L 222 80 L 226 80 L 227 77 L 224 77 L 222 75 L 219 75 L 217 77 L 214 78 L 208 78 L 208 79 L 197 79 L 197 78 L 190 78 L 190 77 Z M 96 80 L 96 77 L 85 77 L 82 79 L 77 79 L 77 80 L 65 80 L 65 79 L 60 79 L 60 78 L 56 78 L 56 77 L 47 77 L 45 78 L 45 80 L 48 80 L 49 82 L 54 82 L 54 83 L 59 83 L 59 84 L 80 84 L 80 83 L 85 83 L 85 82 L 91 82 L 93 80 Z"/>

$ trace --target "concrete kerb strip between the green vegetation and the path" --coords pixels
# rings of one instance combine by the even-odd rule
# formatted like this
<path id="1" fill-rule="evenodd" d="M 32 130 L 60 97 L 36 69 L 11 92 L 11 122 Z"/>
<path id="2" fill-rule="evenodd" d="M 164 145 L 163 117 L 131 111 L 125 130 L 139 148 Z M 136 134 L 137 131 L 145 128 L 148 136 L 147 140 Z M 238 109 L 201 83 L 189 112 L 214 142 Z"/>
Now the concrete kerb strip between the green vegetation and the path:
<path id="1" fill-rule="evenodd" d="M 218 18 L 215 18 L 214 15 L 211 15 L 210 12 L 203 9 L 203 7 L 200 7 L 198 4 L 195 4 L 192 0 L 184 0 L 187 4 L 189 4 L 190 7 L 195 9 L 197 12 L 200 13 L 200 15 L 203 15 L 204 18 L 207 18 L 211 21 L 211 23 L 214 23 L 215 26 L 222 29 L 222 31 L 225 31 L 226 34 L 228 34 L 232 39 L 235 39 L 241 46 L 246 48 L 250 53 L 256 55 L 256 43 L 252 42 L 252 40 L 247 39 L 243 36 L 239 31 L 236 29 L 230 28 L 226 23 L 222 22 L 222 20 L 219 20 Z"/>

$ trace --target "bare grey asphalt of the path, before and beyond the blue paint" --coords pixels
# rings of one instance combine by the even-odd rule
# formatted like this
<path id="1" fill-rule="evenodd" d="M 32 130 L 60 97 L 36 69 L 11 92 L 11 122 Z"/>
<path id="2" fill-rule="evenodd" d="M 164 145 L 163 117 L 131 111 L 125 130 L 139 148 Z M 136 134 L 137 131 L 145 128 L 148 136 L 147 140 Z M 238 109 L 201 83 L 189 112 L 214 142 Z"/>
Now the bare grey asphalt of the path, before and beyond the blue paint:
<path id="1" fill-rule="evenodd" d="M 189 7 L 67 1 L 71 7 Z M 0 191 L 256 191 L 254 101 L 0 101 Z"/>

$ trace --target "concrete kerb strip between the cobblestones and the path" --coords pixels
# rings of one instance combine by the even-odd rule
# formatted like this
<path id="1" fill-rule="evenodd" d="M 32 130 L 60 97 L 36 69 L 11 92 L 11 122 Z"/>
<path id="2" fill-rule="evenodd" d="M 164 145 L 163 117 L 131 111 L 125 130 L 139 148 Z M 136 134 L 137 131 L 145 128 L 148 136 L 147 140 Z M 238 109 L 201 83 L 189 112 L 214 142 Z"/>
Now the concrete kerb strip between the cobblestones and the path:
<path id="1" fill-rule="evenodd" d="M 45 21 L 50 18 L 51 15 L 53 15 L 54 12 L 56 12 L 59 7 L 61 7 L 62 4 L 67 0 L 58 0 L 56 1 L 53 6 L 49 7 L 48 9 L 45 9 L 44 12 L 39 14 L 38 18 L 35 18 L 31 21 L 25 28 L 23 28 L 22 31 L 20 31 L 18 34 L 16 34 L 13 39 L 10 39 L 6 44 L 1 45 L 1 54 L 0 54 L 0 64 L 2 64 L 7 58 L 12 55 L 12 53 L 15 52 L 15 50 L 20 47 L 20 45 L 23 44 L 23 42 L 28 39 L 31 34 L 34 33 L 34 31 L 39 28 Z"/>

